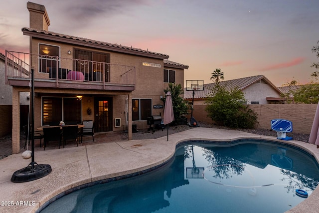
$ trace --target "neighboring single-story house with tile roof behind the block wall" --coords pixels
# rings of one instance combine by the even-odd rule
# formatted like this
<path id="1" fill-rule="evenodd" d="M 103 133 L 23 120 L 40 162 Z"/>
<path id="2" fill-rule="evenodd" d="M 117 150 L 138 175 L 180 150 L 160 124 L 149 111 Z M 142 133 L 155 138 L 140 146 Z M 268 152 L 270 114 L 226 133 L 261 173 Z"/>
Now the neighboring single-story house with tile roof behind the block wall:
<path id="1" fill-rule="evenodd" d="M 245 95 L 245 104 L 282 103 L 284 100 L 280 96 L 281 91 L 263 75 L 220 81 L 219 84 L 228 89 L 239 88 Z M 195 91 L 194 105 L 204 104 L 215 85 L 215 83 L 204 84 L 204 90 Z M 192 91 L 184 89 L 185 100 L 192 101 L 192 96 Z"/>

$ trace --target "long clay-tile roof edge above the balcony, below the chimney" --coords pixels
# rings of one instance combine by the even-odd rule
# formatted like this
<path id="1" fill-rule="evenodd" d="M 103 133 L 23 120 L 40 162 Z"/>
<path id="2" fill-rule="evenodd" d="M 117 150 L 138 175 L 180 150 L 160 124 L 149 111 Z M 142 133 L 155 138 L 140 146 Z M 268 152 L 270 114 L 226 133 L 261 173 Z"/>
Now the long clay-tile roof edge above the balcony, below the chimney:
<path id="1" fill-rule="evenodd" d="M 127 52 L 127 53 L 131 53 L 131 54 L 147 54 L 150 57 L 152 56 L 156 56 L 156 57 L 160 57 L 160 58 L 168 58 L 169 56 L 166 54 L 162 54 L 162 53 L 157 53 L 157 52 L 152 52 L 152 51 L 148 51 L 148 50 L 143 50 L 143 49 L 139 49 L 139 48 L 135 48 L 133 46 L 129 47 L 129 46 L 123 46 L 121 44 L 113 44 L 113 43 L 108 43 L 108 42 L 103 42 L 103 41 L 97 41 L 97 40 L 92 40 L 92 39 L 88 39 L 88 38 L 82 38 L 82 37 L 77 37 L 77 36 L 72 36 L 72 35 L 66 35 L 66 34 L 61 34 L 61 33 L 57 33 L 57 32 L 52 32 L 52 31 L 45 31 L 45 30 L 39 30 L 39 29 L 34 29 L 34 28 L 29 28 L 29 27 L 23 27 L 22 32 L 25 34 L 30 34 L 32 33 L 32 36 L 36 37 L 35 35 L 38 35 L 39 37 L 41 37 L 41 35 L 43 36 L 49 36 L 49 37 L 55 37 L 55 38 L 64 38 L 64 39 L 68 39 L 71 41 L 78 41 L 78 42 L 84 42 L 84 43 L 89 43 L 89 44 L 97 44 L 105 49 L 109 49 L 112 51 L 120 51 L 120 52 Z M 66 41 L 65 41 L 66 42 Z"/>

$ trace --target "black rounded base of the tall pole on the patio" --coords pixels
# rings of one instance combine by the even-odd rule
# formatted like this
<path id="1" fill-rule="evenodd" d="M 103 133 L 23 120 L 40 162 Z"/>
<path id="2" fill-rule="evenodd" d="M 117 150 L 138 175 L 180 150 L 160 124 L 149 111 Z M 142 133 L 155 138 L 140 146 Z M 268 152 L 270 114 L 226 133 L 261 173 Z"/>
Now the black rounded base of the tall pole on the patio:
<path id="1" fill-rule="evenodd" d="M 27 167 L 17 170 L 11 177 L 11 182 L 22 183 L 28 181 L 34 181 L 36 179 L 47 176 L 52 172 L 52 168 L 48 164 L 37 164 L 31 162 Z"/>

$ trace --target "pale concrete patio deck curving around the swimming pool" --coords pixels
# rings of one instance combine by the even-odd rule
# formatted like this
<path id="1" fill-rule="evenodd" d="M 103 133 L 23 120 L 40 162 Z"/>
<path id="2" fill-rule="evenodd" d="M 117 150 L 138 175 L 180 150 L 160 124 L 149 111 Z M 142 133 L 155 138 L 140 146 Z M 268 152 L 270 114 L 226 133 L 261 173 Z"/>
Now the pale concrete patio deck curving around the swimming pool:
<path id="1" fill-rule="evenodd" d="M 161 133 L 164 134 L 164 133 Z M 67 146 L 64 149 L 37 148 L 35 162 L 49 164 L 52 172 L 38 180 L 25 183 L 12 183 L 12 174 L 30 163 L 21 154 L 13 154 L 0 160 L 0 212 L 33 213 L 47 201 L 66 190 L 83 184 L 108 178 L 129 175 L 161 165 L 169 160 L 178 143 L 188 140 L 231 141 L 241 138 L 277 140 L 275 137 L 214 128 L 193 128 L 156 139 L 131 140 L 114 139 L 108 143 L 83 143 L 80 146 Z M 89 139 L 87 139 L 89 140 Z M 282 140 L 278 140 L 284 142 Z M 313 144 L 300 141 L 286 141 L 302 147 L 319 160 L 319 149 Z M 318 213 L 319 188 L 301 204 L 288 213 Z M 12 202 L 6 206 L 4 202 Z M 20 202 L 24 202 L 24 205 Z"/>

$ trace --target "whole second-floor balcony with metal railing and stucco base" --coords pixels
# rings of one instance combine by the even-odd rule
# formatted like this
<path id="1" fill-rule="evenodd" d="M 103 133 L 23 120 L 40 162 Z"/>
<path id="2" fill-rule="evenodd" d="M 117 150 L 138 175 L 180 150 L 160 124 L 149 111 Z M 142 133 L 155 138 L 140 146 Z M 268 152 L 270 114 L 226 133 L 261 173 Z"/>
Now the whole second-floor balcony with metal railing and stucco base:
<path id="1" fill-rule="evenodd" d="M 61 89 L 133 91 L 134 66 L 91 60 L 5 51 L 5 82 L 27 86 L 34 69 L 34 86 Z"/>

